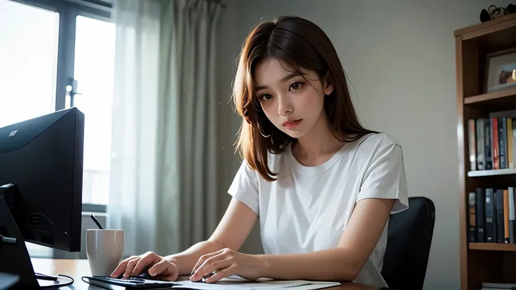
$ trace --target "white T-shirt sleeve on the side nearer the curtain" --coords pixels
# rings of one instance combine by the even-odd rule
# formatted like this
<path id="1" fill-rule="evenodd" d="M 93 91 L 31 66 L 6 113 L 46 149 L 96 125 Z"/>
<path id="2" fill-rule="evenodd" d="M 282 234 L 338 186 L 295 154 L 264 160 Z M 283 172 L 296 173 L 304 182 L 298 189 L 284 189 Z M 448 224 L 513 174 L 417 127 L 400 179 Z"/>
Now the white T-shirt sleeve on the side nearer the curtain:
<path id="1" fill-rule="evenodd" d="M 246 160 L 238 168 L 228 193 L 259 215 L 258 176 Z"/>

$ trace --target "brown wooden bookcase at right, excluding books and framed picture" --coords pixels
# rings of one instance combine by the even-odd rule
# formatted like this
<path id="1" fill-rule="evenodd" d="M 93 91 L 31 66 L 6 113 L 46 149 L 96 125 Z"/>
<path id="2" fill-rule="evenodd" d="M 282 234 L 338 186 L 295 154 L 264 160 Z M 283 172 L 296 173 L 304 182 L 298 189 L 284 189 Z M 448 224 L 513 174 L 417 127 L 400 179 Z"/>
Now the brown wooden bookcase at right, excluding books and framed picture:
<path id="1" fill-rule="evenodd" d="M 516 88 L 486 92 L 487 55 L 516 48 L 516 14 L 454 32 L 459 150 L 459 255 L 461 290 L 482 282 L 516 283 L 516 244 L 470 242 L 468 193 L 477 188 L 516 187 L 516 170 L 470 170 L 468 120 L 516 109 Z"/>

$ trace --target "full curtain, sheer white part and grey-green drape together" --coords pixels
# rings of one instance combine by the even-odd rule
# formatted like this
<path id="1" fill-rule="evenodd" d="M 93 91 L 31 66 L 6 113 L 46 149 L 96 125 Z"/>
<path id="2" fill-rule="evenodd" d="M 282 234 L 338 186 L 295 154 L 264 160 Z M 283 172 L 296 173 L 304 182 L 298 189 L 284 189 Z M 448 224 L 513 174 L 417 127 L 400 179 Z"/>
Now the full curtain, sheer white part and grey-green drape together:
<path id="1" fill-rule="evenodd" d="M 109 228 L 166 255 L 217 225 L 215 32 L 206 0 L 115 0 Z"/>

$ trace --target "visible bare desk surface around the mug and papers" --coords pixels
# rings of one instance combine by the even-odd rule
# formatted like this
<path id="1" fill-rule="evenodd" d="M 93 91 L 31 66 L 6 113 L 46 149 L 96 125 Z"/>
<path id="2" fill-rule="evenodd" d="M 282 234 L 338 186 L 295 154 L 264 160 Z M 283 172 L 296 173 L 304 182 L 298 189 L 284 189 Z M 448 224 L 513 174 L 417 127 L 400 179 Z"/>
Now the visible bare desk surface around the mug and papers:
<path id="1" fill-rule="evenodd" d="M 68 275 L 74 278 L 73 287 L 63 287 L 63 289 L 102 289 L 97 286 L 92 286 L 81 280 L 81 277 L 90 275 L 90 265 L 88 260 L 65 260 L 65 259 L 50 259 L 50 258 L 32 258 L 32 265 L 34 272 L 39 272 L 46 275 Z M 330 289 L 330 288 L 329 288 Z M 375 286 L 368 286 L 355 283 L 343 283 L 341 286 L 332 287 L 335 290 L 380 290 L 381 288 Z"/>

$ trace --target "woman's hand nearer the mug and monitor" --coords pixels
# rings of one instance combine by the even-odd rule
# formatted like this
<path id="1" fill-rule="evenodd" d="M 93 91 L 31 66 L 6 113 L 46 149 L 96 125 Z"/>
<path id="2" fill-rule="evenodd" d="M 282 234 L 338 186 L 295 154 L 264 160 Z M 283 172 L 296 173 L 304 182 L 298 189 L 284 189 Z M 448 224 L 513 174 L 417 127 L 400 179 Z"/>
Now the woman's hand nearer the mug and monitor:
<path id="1" fill-rule="evenodd" d="M 111 277 L 116 278 L 120 275 L 123 275 L 123 277 L 137 276 L 146 269 L 148 269 L 149 275 L 168 281 L 175 281 L 179 274 L 175 263 L 168 261 L 162 256 L 158 256 L 152 251 L 148 251 L 140 256 L 130 256 L 121 261 L 118 267 L 111 273 Z"/>

